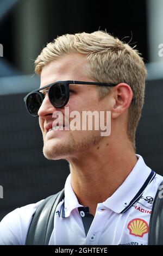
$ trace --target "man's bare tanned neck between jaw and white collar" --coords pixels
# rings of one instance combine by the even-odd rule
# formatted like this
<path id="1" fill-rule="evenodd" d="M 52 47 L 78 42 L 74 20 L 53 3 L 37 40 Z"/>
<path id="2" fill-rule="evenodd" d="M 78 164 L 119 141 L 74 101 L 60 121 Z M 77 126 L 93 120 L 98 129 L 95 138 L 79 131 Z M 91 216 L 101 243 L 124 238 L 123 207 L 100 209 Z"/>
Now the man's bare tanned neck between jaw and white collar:
<path id="1" fill-rule="evenodd" d="M 97 145 L 70 162 L 71 185 L 78 201 L 95 215 L 97 204 L 110 197 L 134 168 L 137 158 L 130 142 Z M 111 143 L 114 145 L 114 143 Z"/>

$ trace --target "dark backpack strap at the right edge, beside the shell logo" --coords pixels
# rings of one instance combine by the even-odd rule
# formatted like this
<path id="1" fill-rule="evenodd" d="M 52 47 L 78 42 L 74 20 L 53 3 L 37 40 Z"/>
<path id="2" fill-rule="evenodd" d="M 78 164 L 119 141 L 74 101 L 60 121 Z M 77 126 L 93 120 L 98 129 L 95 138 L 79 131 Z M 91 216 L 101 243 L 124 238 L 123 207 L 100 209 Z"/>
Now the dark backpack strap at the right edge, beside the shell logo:
<path id="1" fill-rule="evenodd" d="M 148 245 L 163 245 L 163 181 L 154 198 L 149 221 Z"/>

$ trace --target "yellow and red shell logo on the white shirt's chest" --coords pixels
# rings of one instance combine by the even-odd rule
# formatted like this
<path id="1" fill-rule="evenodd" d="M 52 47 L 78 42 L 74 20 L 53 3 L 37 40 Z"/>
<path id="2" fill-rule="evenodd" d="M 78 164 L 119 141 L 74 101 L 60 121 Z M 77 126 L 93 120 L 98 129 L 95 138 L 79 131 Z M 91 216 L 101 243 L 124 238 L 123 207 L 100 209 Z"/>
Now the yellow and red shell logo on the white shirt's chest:
<path id="1" fill-rule="evenodd" d="M 130 231 L 130 235 L 143 237 L 144 234 L 148 233 L 148 223 L 141 218 L 131 220 L 127 228 Z"/>

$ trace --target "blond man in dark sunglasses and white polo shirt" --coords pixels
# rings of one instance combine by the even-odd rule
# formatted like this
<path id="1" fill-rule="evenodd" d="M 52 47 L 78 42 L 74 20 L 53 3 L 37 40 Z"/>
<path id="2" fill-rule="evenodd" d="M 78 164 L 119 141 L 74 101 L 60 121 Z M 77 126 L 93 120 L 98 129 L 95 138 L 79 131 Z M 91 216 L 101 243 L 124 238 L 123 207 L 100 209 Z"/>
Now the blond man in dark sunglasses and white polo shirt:
<path id="1" fill-rule="evenodd" d="M 146 78 L 139 53 L 106 32 L 67 34 L 42 50 L 35 72 L 41 75 L 40 88 L 25 100 L 29 113 L 39 115 L 43 154 L 66 159 L 71 173 L 49 245 L 147 245 L 153 198 L 163 178 L 135 155 Z M 66 107 L 70 113 L 110 111 L 110 135 L 101 136 L 102 129 L 73 130 L 66 121 L 54 125 L 54 114 L 65 117 Z M 26 243 L 41 203 L 4 217 L 1 245 Z"/>

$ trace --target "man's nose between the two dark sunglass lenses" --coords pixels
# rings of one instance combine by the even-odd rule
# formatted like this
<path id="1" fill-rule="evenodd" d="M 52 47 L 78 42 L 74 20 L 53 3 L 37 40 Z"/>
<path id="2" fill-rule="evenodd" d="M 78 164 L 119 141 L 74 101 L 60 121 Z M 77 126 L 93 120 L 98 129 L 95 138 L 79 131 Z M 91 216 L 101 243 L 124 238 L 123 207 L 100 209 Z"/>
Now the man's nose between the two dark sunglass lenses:
<path id="1" fill-rule="evenodd" d="M 43 118 L 46 115 L 53 114 L 54 111 L 56 111 L 56 108 L 49 101 L 48 95 L 46 95 L 42 101 L 41 107 L 39 108 L 38 115 Z"/>

